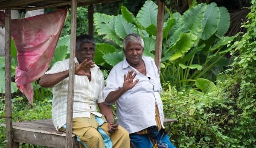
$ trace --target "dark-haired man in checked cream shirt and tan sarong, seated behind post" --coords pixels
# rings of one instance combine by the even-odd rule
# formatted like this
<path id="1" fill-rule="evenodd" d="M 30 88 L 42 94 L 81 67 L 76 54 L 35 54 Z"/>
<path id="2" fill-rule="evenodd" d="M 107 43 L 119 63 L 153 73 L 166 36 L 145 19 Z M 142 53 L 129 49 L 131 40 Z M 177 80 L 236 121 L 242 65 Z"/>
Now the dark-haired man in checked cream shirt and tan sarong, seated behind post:
<path id="1" fill-rule="evenodd" d="M 111 106 L 104 103 L 104 77 L 93 62 L 95 49 L 92 36 L 76 38 L 73 134 L 79 138 L 80 148 L 128 148 L 127 131 L 113 124 Z M 41 87 L 53 87 L 52 120 L 60 131 L 66 131 L 68 76 L 69 59 L 65 59 L 56 62 L 39 81 Z"/>

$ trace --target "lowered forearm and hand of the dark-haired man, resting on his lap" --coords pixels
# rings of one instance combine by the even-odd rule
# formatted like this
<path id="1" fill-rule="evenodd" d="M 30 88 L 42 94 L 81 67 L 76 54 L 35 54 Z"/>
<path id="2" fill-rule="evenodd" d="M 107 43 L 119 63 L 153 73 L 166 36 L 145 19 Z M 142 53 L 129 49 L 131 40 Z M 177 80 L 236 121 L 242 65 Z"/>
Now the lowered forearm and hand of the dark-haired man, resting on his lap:
<path id="1" fill-rule="evenodd" d="M 112 113 L 111 106 L 106 105 L 104 102 L 98 103 L 98 106 L 99 106 L 100 113 L 103 114 L 108 121 L 108 128 L 109 128 L 108 132 L 109 133 L 116 132 L 119 124 L 118 123 L 113 124 L 114 116 Z"/>

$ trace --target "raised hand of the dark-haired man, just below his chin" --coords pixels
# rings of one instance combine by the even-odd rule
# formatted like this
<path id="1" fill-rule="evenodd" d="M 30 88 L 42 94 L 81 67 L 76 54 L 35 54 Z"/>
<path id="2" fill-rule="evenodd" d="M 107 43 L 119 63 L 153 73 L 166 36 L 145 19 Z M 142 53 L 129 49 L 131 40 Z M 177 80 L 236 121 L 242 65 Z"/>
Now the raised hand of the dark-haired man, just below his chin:
<path id="1" fill-rule="evenodd" d="M 88 73 L 88 70 L 90 70 L 90 68 L 95 67 L 93 64 L 95 64 L 95 62 L 93 62 L 92 60 L 90 61 L 87 61 L 87 59 L 84 60 L 83 62 L 81 62 L 79 65 L 76 66 L 75 74 L 90 76 L 90 74 Z"/>

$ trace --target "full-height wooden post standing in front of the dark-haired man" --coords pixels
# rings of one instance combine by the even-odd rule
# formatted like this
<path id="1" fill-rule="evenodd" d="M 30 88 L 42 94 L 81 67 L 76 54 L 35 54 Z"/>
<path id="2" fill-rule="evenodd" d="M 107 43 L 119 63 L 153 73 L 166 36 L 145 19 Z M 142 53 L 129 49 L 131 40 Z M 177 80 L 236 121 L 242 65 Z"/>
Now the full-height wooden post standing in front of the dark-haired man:
<path id="1" fill-rule="evenodd" d="M 76 56 L 76 6 L 77 1 L 71 2 L 71 35 L 70 35 L 70 68 L 67 93 L 67 129 L 65 148 L 72 148 L 72 125 L 74 104 L 75 56 Z"/>

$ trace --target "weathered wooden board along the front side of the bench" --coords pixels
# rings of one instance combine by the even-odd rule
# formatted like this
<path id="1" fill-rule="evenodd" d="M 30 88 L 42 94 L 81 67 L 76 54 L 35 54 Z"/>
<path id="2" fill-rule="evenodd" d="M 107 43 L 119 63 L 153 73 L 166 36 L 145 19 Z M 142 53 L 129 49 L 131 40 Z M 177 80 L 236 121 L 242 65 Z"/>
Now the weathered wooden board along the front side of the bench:
<path id="1" fill-rule="evenodd" d="M 41 146 L 48 146 L 52 148 L 64 148 L 65 137 L 51 134 L 42 134 L 31 131 L 23 131 L 19 129 L 13 130 L 15 142 L 29 143 Z M 70 138 L 72 141 L 70 148 L 79 148 L 79 142 L 76 137 Z"/>

